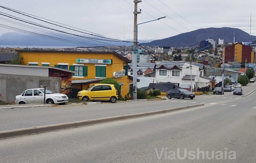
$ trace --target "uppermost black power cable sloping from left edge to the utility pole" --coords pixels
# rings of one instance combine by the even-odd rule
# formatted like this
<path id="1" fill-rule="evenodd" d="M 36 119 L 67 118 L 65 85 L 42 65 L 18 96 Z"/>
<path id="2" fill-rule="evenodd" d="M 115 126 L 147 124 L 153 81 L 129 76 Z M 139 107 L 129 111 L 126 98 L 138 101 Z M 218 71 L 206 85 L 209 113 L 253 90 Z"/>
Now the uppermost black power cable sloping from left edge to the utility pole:
<path id="1" fill-rule="evenodd" d="M 41 20 L 41 19 L 38 19 L 38 18 L 35 18 L 35 17 L 32 17 L 32 16 L 29 16 L 29 15 L 26 15 L 26 14 L 23 14 L 24 12 L 21 13 L 21 12 L 18 12 L 17 10 L 13 10 L 13 9 L 11 9 L 11 8 L 7 8 L 7 7 L 4 7 L 4 6 L 0 6 L 0 7 L 1 7 L 1 8 L 4 8 L 4 9 L 6 9 L 6 10 L 10 10 L 10 11 L 12 11 L 12 12 L 16 12 L 16 13 L 18 13 L 18 14 L 21 14 L 21 15 L 24 15 L 24 16 L 27 16 L 27 17 L 36 19 L 36 20 L 40 20 L 40 21 L 43 21 L 43 22 L 52 24 L 52 25 L 56 25 L 56 26 L 59 26 L 59 27 L 62 27 L 62 28 L 66 28 L 66 29 L 69 29 L 69 30 L 73 30 L 73 31 L 76 31 L 76 32 L 81 32 L 81 31 L 78 31 L 78 30 L 74 30 L 74 29 L 71 29 L 71 28 L 67 28 L 67 27 L 64 27 L 64 26 L 61 26 L 61 25 L 57 25 L 57 24 L 54 24 L 54 23 L 51 23 L 51 22 L 48 22 L 48 21 L 44 21 L 44 20 Z M 92 35 L 92 36 L 96 36 L 96 37 L 106 38 L 106 37 L 102 37 L 102 36 L 97 36 L 97 35 L 89 34 L 89 33 L 86 33 L 86 32 L 81 32 L 81 33 L 88 34 L 88 35 Z M 97 39 L 97 38 L 92 38 L 92 39 L 104 40 L 104 39 Z M 106 39 L 110 39 L 110 40 L 104 40 L 104 41 L 114 41 L 114 40 L 115 40 L 115 42 L 130 42 L 130 41 L 123 41 L 123 40 L 112 39 L 112 38 L 106 38 Z M 130 43 L 133 43 L 133 42 L 130 42 Z"/>

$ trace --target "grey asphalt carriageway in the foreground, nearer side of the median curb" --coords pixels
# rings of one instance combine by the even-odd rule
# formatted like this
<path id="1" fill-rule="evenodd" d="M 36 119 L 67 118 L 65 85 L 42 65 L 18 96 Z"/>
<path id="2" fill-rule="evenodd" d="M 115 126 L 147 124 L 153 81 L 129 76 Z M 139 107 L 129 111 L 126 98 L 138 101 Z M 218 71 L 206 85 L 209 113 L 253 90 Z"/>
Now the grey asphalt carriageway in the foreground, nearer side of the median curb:
<path id="1" fill-rule="evenodd" d="M 172 105 L 175 103 L 173 101 L 179 104 L 188 103 L 179 101 L 206 101 L 212 104 L 3 139 L 0 140 L 1 162 L 255 162 L 255 93 L 246 98 L 225 93 L 200 96 L 195 100 L 154 102 L 161 108 L 163 105 Z M 197 149 L 198 152 L 202 151 L 198 157 Z M 181 157 L 184 150 L 187 150 L 187 154 L 195 152 L 195 159 L 187 155 L 184 160 L 179 160 L 178 150 Z M 209 157 L 213 151 L 212 160 L 206 159 L 206 151 L 209 152 Z M 221 153 L 217 151 L 223 152 L 222 159 Z M 235 157 L 232 151 L 235 152 Z M 224 159 L 225 153 L 233 160 Z M 171 158 L 175 160 L 170 160 Z"/>

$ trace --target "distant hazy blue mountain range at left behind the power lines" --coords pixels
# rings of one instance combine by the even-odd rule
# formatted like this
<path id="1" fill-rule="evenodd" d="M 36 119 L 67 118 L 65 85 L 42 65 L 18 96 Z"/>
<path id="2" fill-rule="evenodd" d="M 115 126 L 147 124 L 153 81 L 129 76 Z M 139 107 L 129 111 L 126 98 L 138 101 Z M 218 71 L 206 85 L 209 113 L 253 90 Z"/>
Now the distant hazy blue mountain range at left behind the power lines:
<path id="1" fill-rule="evenodd" d="M 50 34 L 45 34 L 45 33 L 42 33 L 42 34 L 47 35 L 47 36 L 51 36 L 51 37 L 63 38 L 63 37 L 56 36 L 56 35 L 50 35 Z M 64 35 L 63 33 L 60 33 L 60 34 Z M 82 40 L 77 40 L 77 41 L 80 41 L 80 42 L 88 42 L 88 41 L 93 42 L 92 40 L 83 39 L 81 37 L 76 37 L 76 36 L 72 36 L 72 35 L 67 35 L 67 36 L 82 39 Z M 89 37 L 91 37 L 91 36 L 89 36 Z M 73 38 L 63 38 L 63 39 L 73 39 Z M 100 39 L 103 39 L 103 38 L 100 38 Z M 98 41 L 104 42 L 102 40 L 98 40 Z M 126 41 L 133 41 L 133 40 L 126 40 Z M 149 40 L 140 40 L 139 42 L 145 43 L 145 42 L 148 42 L 148 41 Z M 95 44 L 104 44 L 104 43 L 100 43 L 100 42 L 94 41 Z M 112 45 L 117 45 L 117 46 L 123 46 L 124 45 L 123 42 L 106 42 L 106 43 L 112 44 Z M 108 44 L 106 46 L 111 46 L 111 45 L 108 45 Z M 64 41 L 49 39 L 49 38 L 45 38 L 45 37 L 25 34 L 25 33 L 21 33 L 21 32 L 7 32 L 7 33 L 4 33 L 4 34 L 1 34 L 0 35 L 0 45 L 73 46 L 73 47 L 79 47 L 79 46 L 91 47 L 92 46 L 92 45 L 75 44 L 75 43 L 70 43 L 70 42 L 64 42 Z M 125 46 L 132 46 L 132 44 L 125 43 Z"/>

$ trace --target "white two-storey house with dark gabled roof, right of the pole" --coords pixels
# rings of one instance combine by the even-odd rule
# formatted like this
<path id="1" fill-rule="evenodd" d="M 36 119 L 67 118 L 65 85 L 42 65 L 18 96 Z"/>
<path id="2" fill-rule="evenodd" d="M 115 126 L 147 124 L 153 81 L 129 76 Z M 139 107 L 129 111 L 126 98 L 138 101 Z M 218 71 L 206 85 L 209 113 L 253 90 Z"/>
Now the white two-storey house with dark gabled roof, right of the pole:
<path id="1" fill-rule="evenodd" d="M 199 78 L 204 76 L 204 64 L 192 63 L 192 86 L 198 87 Z M 157 82 L 172 82 L 180 84 L 190 84 L 190 62 L 184 61 L 162 61 L 156 67 Z"/>

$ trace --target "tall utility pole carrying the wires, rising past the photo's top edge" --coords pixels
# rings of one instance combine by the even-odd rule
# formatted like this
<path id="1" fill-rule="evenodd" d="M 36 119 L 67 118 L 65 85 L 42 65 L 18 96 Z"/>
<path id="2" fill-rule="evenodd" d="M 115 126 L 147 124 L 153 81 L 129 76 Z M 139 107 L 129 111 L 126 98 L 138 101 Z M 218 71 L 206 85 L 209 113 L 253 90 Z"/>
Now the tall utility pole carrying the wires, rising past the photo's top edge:
<path id="1" fill-rule="evenodd" d="M 133 28 L 133 56 L 132 56 L 132 62 L 133 62 L 133 99 L 137 99 L 137 15 L 141 12 L 138 12 L 138 3 L 141 1 L 134 0 L 134 28 Z"/>

